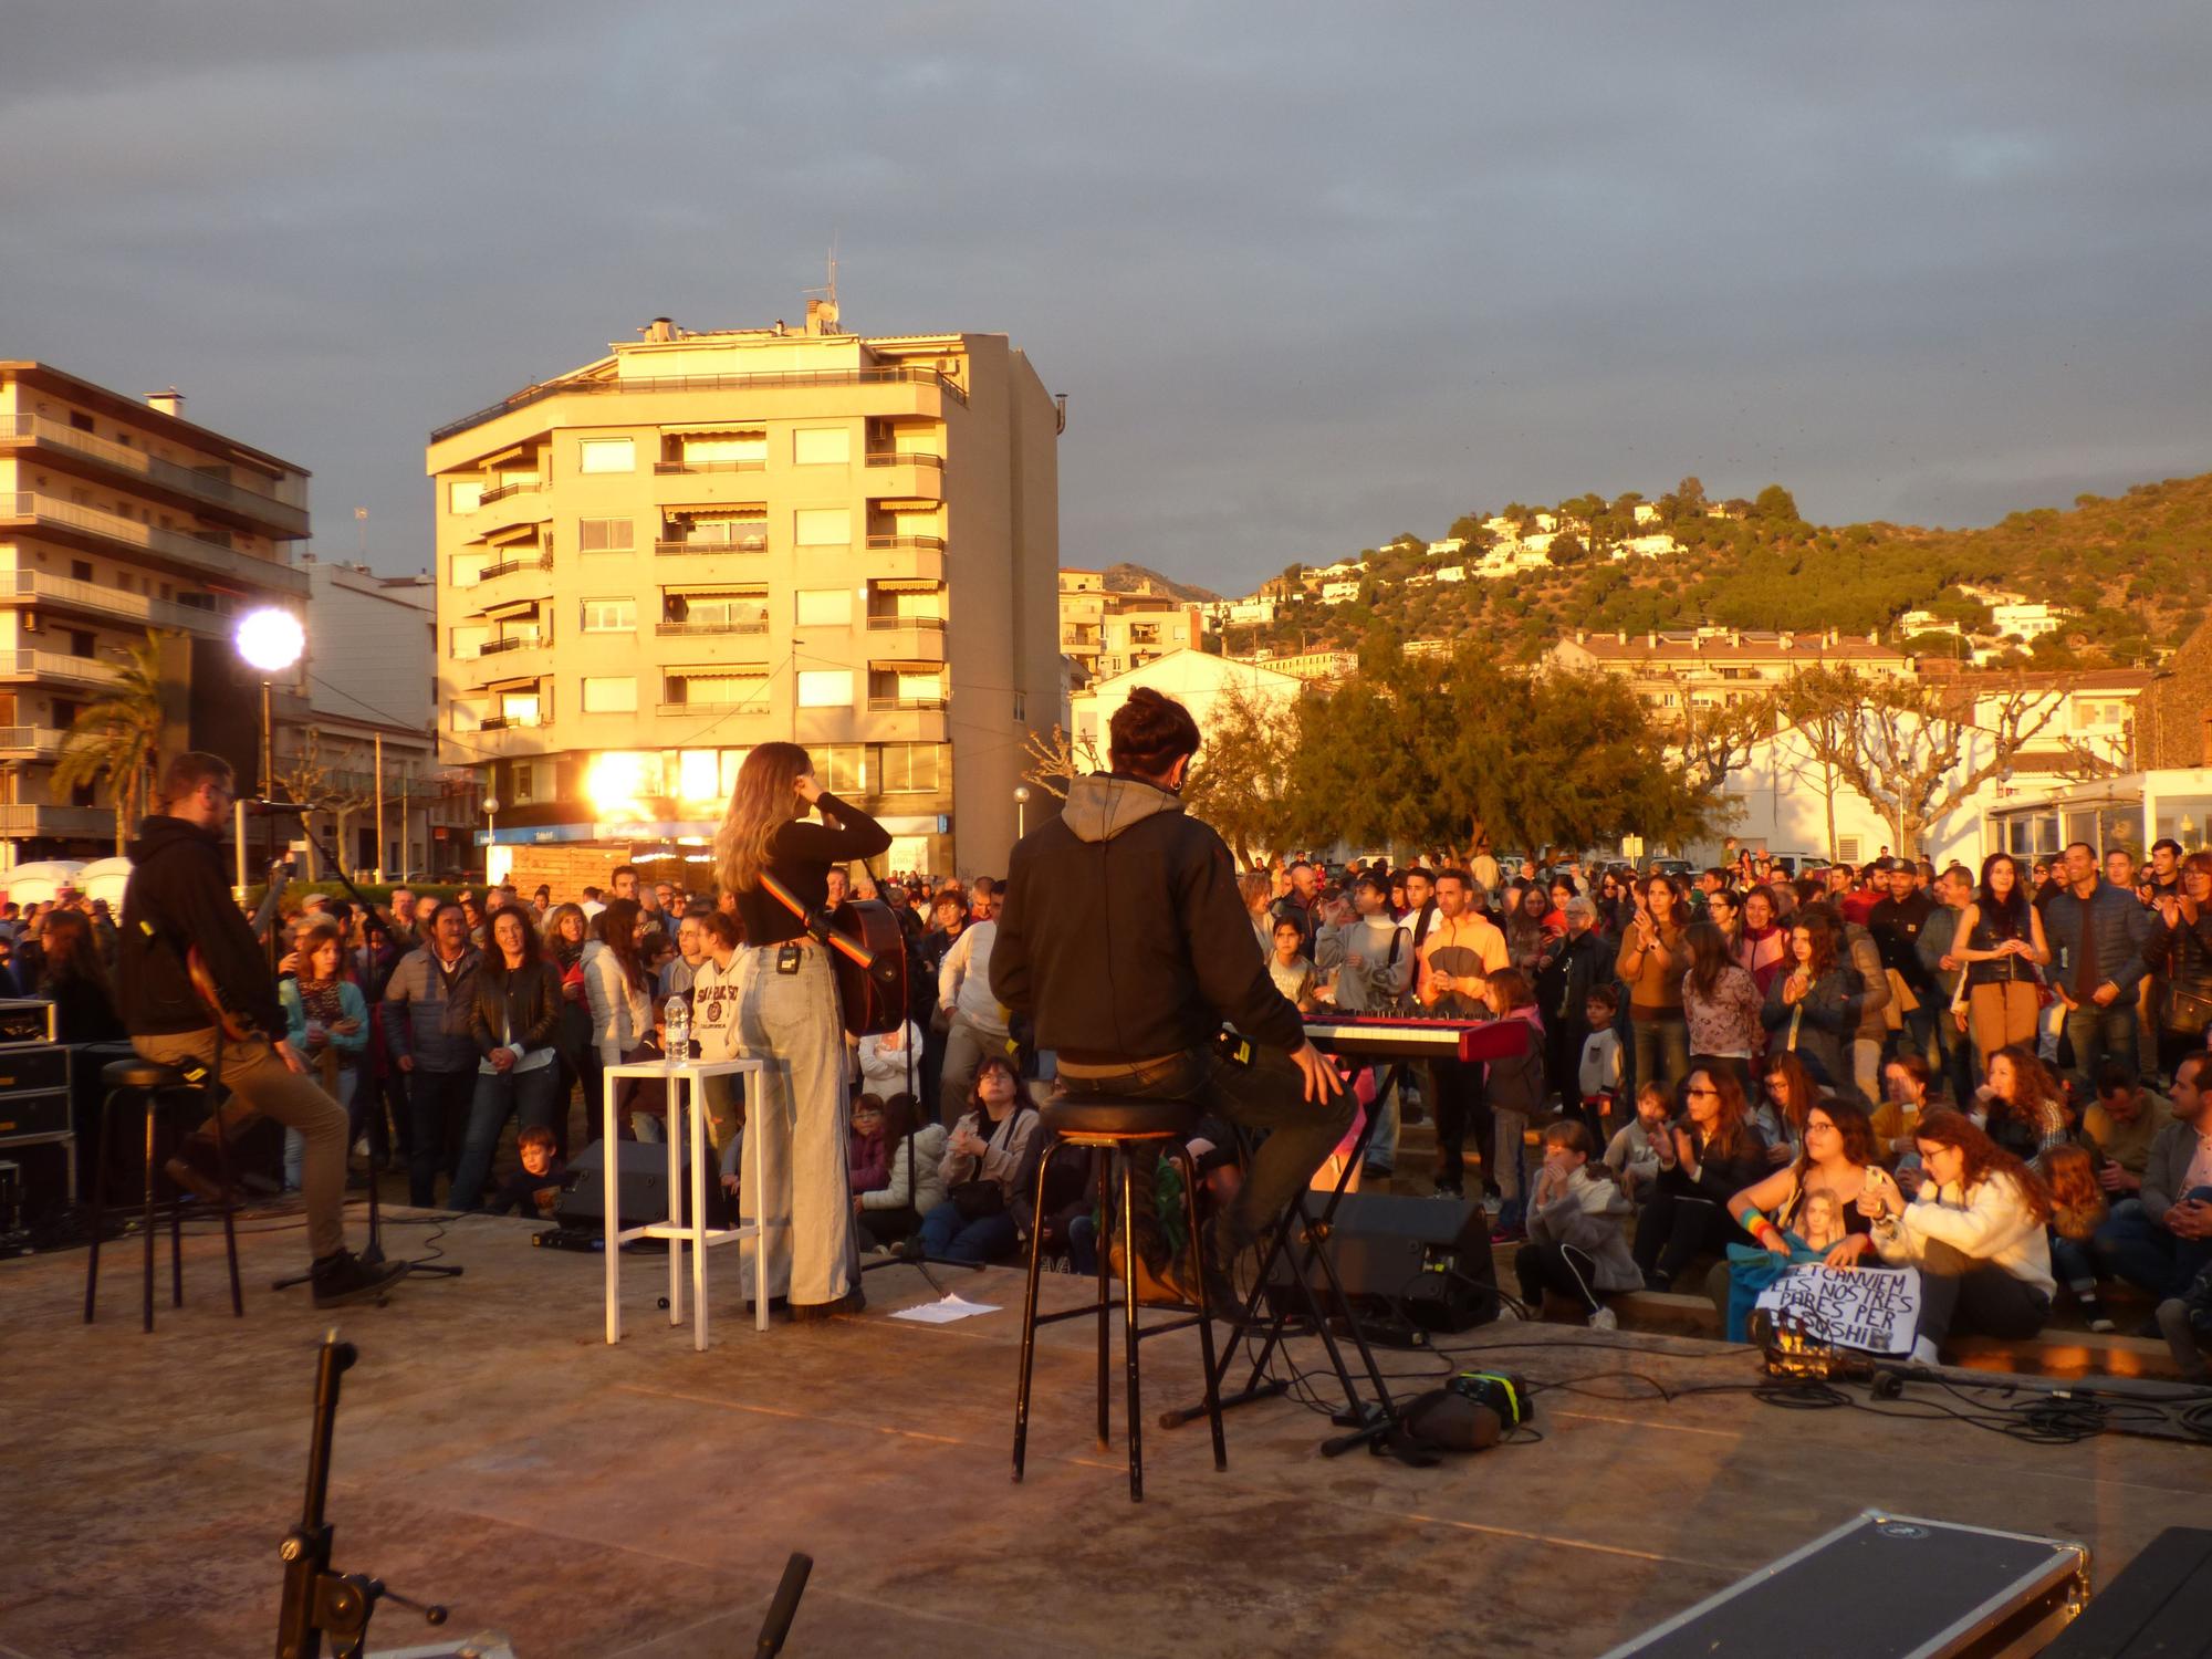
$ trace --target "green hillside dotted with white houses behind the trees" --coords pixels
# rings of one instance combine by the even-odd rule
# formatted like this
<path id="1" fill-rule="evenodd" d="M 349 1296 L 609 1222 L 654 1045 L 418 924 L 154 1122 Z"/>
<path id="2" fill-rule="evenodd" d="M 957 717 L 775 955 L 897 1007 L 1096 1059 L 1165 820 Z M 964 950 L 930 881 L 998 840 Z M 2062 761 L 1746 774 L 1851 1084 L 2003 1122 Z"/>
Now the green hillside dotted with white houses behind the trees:
<path id="1" fill-rule="evenodd" d="M 1986 529 L 1913 524 L 1809 524 L 1787 489 L 1756 500 L 1708 502 L 1699 480 L 1650 502 L 1644 495 L 1577 495 L 1548 509 L 1559 524 L 1551 566 L 1482 580 L 1475 560 L 1495 542 L 1486 511 L 1460 515 L 1447 538 L 1464 549 L 1431 553 L 1427 538 L 1398 535 L 1367 549 L 1356 599 L 1316 597 L 1265 626 L 1232 628 L 1228 650 L 1358 646 L 1374 637 L 1495 641 L 1500 657 L 1531 661 L 1577 628 L 1843 628 L 1898 644 L 1900 619 L 1927 611 L 1969 633 L 1989 608 L 1962 588 L 2004 588 L 2073 613 L 2059 633 L 2020 655 L 2037 668 L 2146 664 L 2203 619 L 2212 555 L 2212 473 L 2137 484 L 2126 495 L 2079 495 L 2068 511 L 2013 513 Z M 1650 509 L 1657 509 L 1652 515 Z M 1533 524 L 1540 509 L 1513 502 L 1498 518 Z M 1666 531 L 1681 544 L 1661 557 L 1613 560 L 1610 549 Z M 1464 582 L 1407 586 L 1438 568 L 1467 566 Z M 1267 591 L 1296 591 L 1296 568 Z M 1918 648 L 1955 648 L 1933 635 Z"/>

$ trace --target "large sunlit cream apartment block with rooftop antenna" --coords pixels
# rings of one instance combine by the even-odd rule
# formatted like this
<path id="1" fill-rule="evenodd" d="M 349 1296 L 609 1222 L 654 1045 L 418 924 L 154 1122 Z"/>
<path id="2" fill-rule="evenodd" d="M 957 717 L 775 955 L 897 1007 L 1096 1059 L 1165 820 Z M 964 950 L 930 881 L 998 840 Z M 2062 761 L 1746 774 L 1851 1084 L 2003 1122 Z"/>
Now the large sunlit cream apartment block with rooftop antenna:
<path id="1" fill-rule="evenodd" d="M 641 338 L 431 434 L 438 745 L 491 863 L 706 863 L 754 743 L 805 743 L 891 867 L 1000 872 L 1060 706 L 1062 409 L 1004 334 Z"/>

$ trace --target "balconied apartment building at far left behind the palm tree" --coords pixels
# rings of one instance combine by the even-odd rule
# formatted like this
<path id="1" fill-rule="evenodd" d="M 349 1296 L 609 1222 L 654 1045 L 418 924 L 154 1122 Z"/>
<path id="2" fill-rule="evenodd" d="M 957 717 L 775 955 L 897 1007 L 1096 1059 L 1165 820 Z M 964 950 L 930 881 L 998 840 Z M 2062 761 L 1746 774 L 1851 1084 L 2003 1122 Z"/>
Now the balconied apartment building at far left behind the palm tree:
<path id="1" fill-rule="evenodd" d="M 208 748 L 259 779 L 259 677 L 230 644 L 259 606 L 303 608 L 307 471 L 146 398 L 0 361 L 0 858 L 115 849 L 104 790 L 55 801 L 77 712 L 111 692 L 124 650 L 164 635 L 164 750 Z M 279 728 L 307 719 L 305 666 L 274 690 Z"/>

